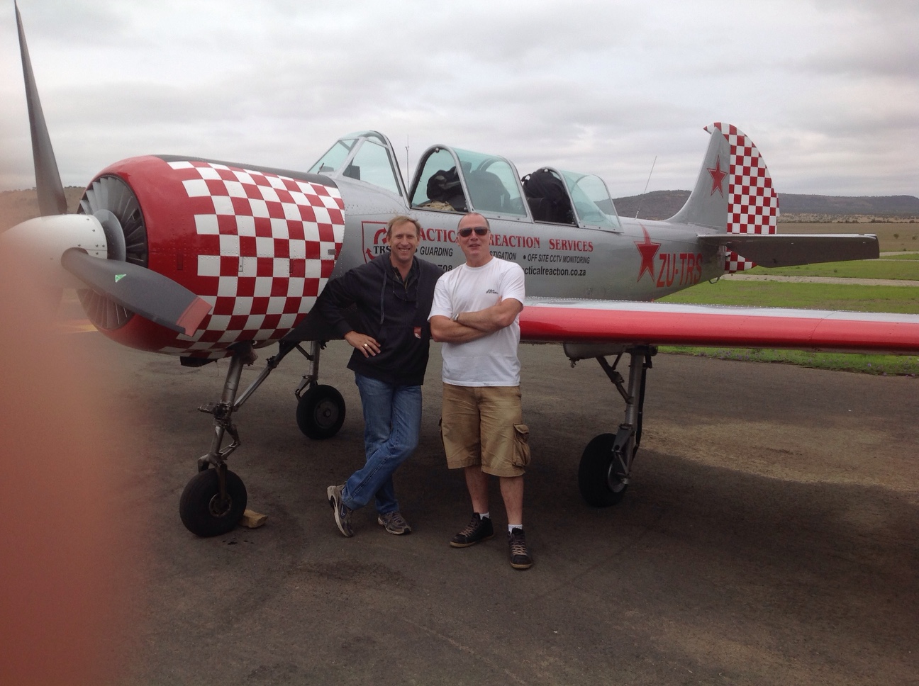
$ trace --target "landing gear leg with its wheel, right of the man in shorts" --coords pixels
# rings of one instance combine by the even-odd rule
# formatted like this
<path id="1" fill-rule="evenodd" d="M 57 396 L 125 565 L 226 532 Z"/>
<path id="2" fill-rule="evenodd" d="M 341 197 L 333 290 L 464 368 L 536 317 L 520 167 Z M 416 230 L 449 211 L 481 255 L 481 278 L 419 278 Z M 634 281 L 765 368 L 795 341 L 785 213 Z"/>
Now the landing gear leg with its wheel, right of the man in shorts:
<path id="1" fill-rule="evenodd" d="M 624 387 L 625 379 L 616 371 L 623 352 L 630 355 L 629 388 Z M 578 489 L 588 505 L 615 505 L 622 500 L 626 489 L 629 488 L 632 462 L 641 443 L 645 379 L 648 369 L 652 366 L 651 358 L 654 354 L 657 354 L 657 348 L 652 346 L 628 348 L 617 354 L 612 365 L 609 365 L 605 356 L 596 355 L 596 361 L 626 401 L 626 415 L 625 422 L 619 424 L 617 433 L 601 433 L 596 436 L 587 444 L 584 454 L 581 455 Z M 576 359 L 572 354 L 569 356 L 572 357 L 573 365 Z"/>

